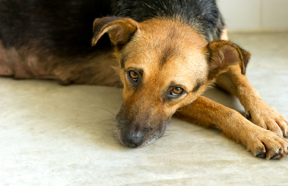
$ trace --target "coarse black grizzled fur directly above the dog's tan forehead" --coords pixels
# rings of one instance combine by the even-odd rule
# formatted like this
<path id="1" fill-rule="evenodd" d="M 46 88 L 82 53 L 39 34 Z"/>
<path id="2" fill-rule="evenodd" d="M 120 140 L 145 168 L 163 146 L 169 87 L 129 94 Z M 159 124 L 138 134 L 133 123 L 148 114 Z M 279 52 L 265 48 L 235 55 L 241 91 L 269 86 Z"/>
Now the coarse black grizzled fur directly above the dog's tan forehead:
<path id="1" fill-rule="evenodd" d="M 112 0 L 113 13 L 138 22 L 150 18 L 178 19 L 206 37 L 218 39 L 223 29 L 223 18 L 215 0 Z"/>

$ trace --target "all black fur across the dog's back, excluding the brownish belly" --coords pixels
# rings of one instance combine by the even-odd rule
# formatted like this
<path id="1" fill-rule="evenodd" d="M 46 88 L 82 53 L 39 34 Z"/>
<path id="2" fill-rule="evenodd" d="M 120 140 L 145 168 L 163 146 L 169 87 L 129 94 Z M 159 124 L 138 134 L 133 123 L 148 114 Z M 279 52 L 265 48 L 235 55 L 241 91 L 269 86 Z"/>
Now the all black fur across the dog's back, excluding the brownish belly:
<path id="1" fill-rule="evenodd" d="M 104 35 L 91 47 L 92 24 L 103 16 L 172 18 L 189 24 L 207 41 L 219 38 L 223 20 L 215 0 L 0 0 L 0 41 L 6 48 L 46 49 L 59 56 L 110 50 Z"/>

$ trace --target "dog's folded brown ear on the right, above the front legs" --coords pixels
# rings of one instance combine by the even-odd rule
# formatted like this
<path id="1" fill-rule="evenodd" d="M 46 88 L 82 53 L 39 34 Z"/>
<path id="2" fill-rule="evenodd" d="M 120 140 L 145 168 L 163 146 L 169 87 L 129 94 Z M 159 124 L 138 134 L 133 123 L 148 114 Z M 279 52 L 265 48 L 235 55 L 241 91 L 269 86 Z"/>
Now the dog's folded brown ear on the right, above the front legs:
<path id="1" fill-rule="evenodd" d="M 211 41 L 204 50 L 210 68 L 213 71 L 239 63 L 241 73 L 245 75 L 246 67 L 251 57 L 251 54 L 246 50 L 230 41 L 224 40 Z"/>

